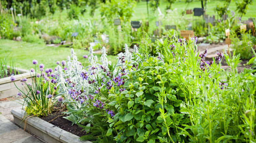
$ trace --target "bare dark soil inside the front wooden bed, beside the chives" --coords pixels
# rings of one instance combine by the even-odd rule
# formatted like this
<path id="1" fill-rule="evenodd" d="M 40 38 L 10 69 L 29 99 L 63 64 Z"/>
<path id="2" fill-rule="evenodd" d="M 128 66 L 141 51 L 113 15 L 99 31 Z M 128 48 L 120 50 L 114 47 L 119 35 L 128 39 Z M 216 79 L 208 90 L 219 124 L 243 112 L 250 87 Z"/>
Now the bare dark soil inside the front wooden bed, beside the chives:
<path id="1" fill-rule="evenodd" d="M 48 115 L 46 117 L 43 117 L 41 119 L 53 124 L 56 127 L 61 128 L 62 130 L 65 130 L 67 132 L 70 132 L 74 135 L 77 135 L 79 137 L 83 136 L 83 135 L 87 135 L 87 133 L 85 131 L 82 131 L 82 128 L 79 127 L 78 125 L 74 124 L 72 126 L 72 122 L 64 119 L 63 117 L 67 117 L 66 114 L 61 113 L 64 112 L 63 110 L 58 110 L 55 113 L 52 113 L 51 115 Z"/>

